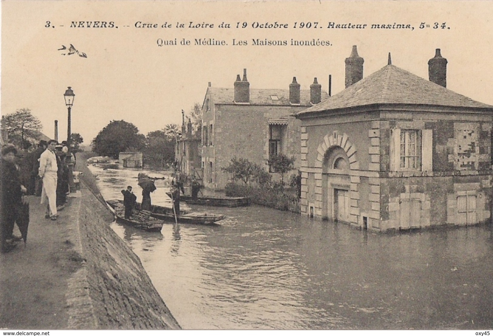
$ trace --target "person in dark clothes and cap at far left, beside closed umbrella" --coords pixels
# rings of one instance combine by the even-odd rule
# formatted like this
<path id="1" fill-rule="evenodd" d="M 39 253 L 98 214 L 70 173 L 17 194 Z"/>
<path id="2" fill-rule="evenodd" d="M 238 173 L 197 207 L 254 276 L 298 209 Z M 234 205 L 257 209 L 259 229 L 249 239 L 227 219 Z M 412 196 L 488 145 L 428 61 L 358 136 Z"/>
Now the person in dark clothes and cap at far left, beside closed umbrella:
<path id="1" fill-rule="evenodd" d="M 19 169 L 15 164 L 16 154 L 17 149 L 12 144 L 1 148 L 0 246 L 2 253 L 10 251 L 15 247 L 15 240 L 20 240 L 20 237 L 12 233 L 17 205 L 22 202 L 22 194 L 27 192 L 19 178 Z"/>

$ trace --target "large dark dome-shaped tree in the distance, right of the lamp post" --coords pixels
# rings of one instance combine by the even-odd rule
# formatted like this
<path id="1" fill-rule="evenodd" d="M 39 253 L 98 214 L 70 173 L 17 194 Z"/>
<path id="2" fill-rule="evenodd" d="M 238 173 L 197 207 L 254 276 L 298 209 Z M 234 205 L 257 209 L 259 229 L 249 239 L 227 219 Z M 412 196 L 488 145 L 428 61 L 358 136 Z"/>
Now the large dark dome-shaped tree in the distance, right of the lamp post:
<path id="1" fill-rule="evenodd" d="M 133 148 L 142 150 L 145 147 L 145 136 L 139 129 L 124 120 L 113 120 L 94 138 L 93 151 L 99 155 L 118 158 L 118 153 Z"/>

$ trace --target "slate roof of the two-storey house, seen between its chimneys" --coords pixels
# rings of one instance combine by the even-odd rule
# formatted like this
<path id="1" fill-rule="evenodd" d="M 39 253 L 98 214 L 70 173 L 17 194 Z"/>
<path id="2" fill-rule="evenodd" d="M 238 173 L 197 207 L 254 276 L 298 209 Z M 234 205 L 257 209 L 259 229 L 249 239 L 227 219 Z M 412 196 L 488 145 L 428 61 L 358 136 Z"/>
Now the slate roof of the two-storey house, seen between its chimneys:
<path id="1" fill-rule="evenodd" d="M 208 88 L 214 104 L 235 104 L 234 88 Z M 279 100 L 272 100 L 271 96 L 277 96 Z M 322 91 L 322 101 L 329 95 Z M 289 103 L 289 89 L 250 89 L 250 105 L 279 105 L 292 106 Z M 300 105 L 312 106 L 310 103 L 310 90 L 300 90 Z"/>

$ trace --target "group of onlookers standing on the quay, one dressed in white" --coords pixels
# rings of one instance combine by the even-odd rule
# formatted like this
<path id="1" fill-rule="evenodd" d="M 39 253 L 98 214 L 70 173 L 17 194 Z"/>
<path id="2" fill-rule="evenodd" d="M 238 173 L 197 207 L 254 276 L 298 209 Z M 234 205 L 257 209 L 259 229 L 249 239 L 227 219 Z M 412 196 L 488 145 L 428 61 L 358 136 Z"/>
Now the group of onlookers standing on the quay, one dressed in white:
<path id="1" fill-rule="evenodd" d="M 69 188 L 68 155 L 66 142 L 57 140 L 39 142 L 32 152 L 24 152 L 18 161 L 19 151 L 13 144 L 1 147 L 0 184 L 0 245 L 2 253 L 12 250 L 20 236 L 13 234 L 14 223 L 24 195 L 41 196 L 47 203 L 45 218 L 57 220 L 57 210 L 67 202 Z"/>

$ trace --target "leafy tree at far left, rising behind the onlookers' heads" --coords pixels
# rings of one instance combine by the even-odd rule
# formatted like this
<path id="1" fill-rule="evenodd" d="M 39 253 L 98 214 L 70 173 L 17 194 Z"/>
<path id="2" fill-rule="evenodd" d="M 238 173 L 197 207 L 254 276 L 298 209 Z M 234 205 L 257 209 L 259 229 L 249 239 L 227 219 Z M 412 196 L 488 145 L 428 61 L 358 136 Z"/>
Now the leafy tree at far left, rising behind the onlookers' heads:
<path id="1" fill-rule="evenodd" d="M 29 140 L 38 140 L 37 135 L 42 129 L 41 122 L 31 114 L 29 108 L 20 108 L 14 113 L 3 115 L 1 124 L 12 143 L 22 148 L 26 147 Z"/>

